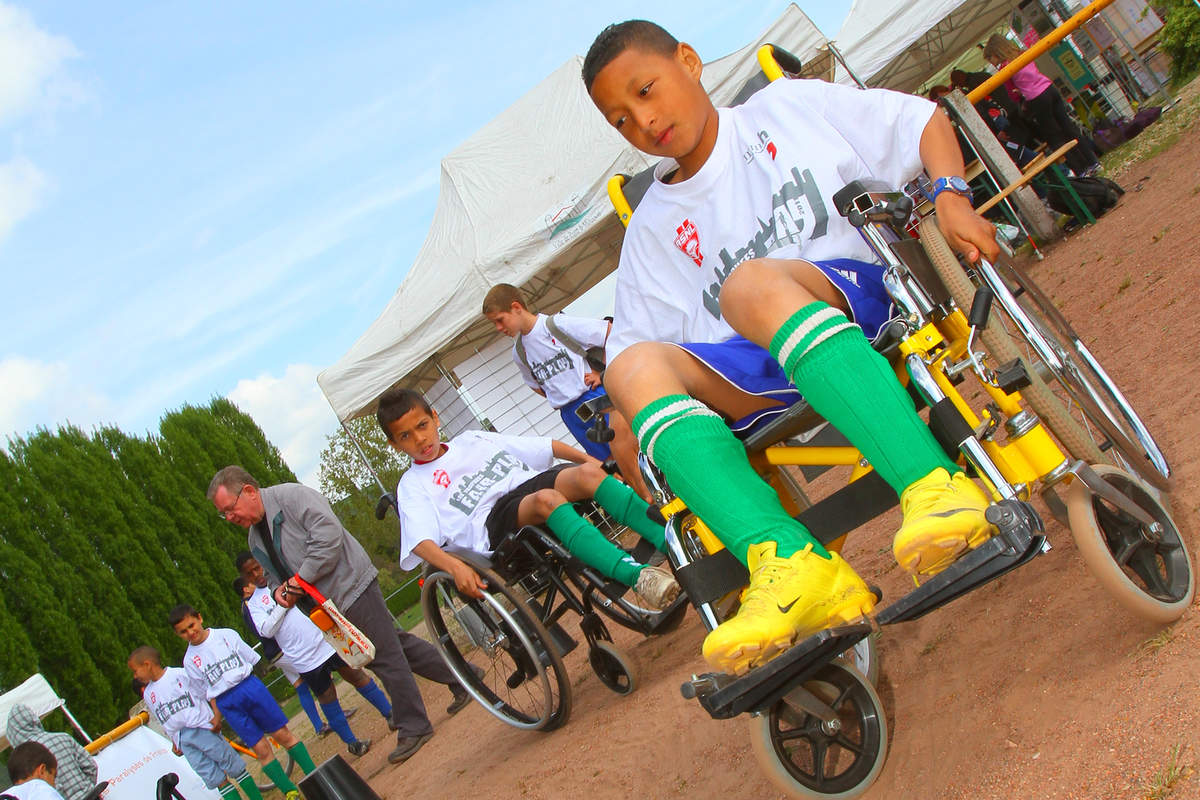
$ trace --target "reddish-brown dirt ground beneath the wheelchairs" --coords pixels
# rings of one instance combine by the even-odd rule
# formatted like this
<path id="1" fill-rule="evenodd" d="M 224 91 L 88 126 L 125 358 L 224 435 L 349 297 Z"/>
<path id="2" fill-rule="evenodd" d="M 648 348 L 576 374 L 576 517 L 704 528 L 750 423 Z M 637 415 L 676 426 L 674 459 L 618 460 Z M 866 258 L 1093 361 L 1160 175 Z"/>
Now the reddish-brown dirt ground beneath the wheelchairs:
<path id="1" fill-rule="evenodd" d="M 1186 132 L 1116 178 L 1128 190 L 1121 204 L 1030 270 L 1164 445 L 1175 517 L 1196 553 L 1200 228 L 1192 215 L 1200 210 L 1200 137 Z M 1045 516 L 1052 552 L 883 631 L 890 750 L 866 798 L 1200 798 L 1195 608 L 1166 628 L 1135 619 L 1103 594 L 1069 531 Z M 858 531 L 846 551 L 883 587 L 884 602 L 906 588 L 890 557 L 895 523 Z M 613 634 L 638 669 L 629 697 L 599 682 L 582 648 L 566 657 L 574 714 L 550 734 L 515 730 L 476 705 L 448 718 L 449 692 L 424 684 L 437 735 L 390 766 L 386 729 L 364 709 L 354 726 L 378 745 L 356 768 L 384 800 L 782 796 L 760 770 L 744 720 L 714 721 L 679 694 L 682 681 L 704 670 L 695 613 L 660 638 L 614 626 Z M 350 694 L 343 688 L 358 704 Z M 319 757 L 335 748 L 334 738 L 314 744 Z M 1174 786 L 1158 790 L 1172 775 Z"/>

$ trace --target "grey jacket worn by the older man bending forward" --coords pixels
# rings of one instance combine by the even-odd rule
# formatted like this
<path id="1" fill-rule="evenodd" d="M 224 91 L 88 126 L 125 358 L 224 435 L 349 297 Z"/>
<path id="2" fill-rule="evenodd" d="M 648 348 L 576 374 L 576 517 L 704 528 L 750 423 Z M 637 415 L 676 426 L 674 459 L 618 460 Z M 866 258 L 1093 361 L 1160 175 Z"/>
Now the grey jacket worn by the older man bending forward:
<path id="1" fill-rule="evenodd" d="M 344 612 L 379 573 L 362 545 L 346 530 L 320 492 L 301 483 L 280 483 L 260 493 L 264 522 L 288 570 L 287 575 L 277 573 L 259 539 L 259 525 L 252 525 L 250 551 L 263 565 L 271 588 L 299 575 Z"/>

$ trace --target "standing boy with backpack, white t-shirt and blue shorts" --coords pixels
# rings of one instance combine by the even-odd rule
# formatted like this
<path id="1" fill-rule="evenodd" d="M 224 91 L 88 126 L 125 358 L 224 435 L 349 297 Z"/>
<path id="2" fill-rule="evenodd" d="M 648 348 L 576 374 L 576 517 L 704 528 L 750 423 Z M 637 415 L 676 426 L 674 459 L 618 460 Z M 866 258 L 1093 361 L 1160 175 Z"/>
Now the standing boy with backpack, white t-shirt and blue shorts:
<path id="1" fill-rule="evenodd" d="M 612 323 L 566 314 L 535 314 L 526 305 L 524 295 L 510 283 L 498 283 L 484 297 L 484 317 L 496 330 L 514 339 L 512 360 L 529 389 L 558 409 L 563 425 L 593 458 L 606 461 L 611 456 L 634 491 L 643 499 L 649 494 L 637 469 L 637 443 L 624 420 L 612 419 L 610 427 L 616 437 L 612 446 L 588 439 L 588 423 L 575 410 L 583 403 L 605 393 L 601 385 L 602 359 L 589 354 L 602 351 Z"/>

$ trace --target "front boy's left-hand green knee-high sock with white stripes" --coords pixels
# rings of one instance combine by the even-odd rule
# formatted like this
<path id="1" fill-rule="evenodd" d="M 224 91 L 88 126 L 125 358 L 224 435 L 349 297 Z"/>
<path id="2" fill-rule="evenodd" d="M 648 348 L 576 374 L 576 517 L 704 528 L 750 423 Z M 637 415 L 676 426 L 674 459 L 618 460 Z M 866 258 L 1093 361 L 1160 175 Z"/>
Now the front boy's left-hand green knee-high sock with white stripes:
<path id="1" fill-rule="evenodd" d="M 787 558 L 806 545 L 829 553 L 758 477 L 745 450 L 720 416 L 686 395 L 667 395 L 634 417 L 642 450 L 666 475 L 671 489 L 725 542 L 743 564 L 758 542 L 775 542 Z"/>

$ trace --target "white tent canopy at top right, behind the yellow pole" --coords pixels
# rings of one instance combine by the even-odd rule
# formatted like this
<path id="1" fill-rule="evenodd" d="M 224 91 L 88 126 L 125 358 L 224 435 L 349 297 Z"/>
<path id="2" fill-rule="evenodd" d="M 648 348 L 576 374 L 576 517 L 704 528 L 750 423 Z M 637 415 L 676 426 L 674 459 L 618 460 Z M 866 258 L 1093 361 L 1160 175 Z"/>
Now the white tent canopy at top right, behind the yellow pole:
<path id="1" fill-rule="evenodd" d="M 917 91 L 1009 14 L 1016 0 L 854 0 L 834 37 L 868 85 Z"/>

